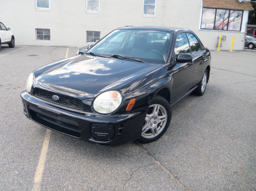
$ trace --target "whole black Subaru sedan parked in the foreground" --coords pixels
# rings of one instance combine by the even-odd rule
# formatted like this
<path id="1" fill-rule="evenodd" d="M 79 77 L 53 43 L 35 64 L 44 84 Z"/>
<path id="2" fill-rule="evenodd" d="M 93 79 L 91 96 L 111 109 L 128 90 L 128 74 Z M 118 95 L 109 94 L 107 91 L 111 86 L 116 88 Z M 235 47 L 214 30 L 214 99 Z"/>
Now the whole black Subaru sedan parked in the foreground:
<path id="1" fill-rule="evenodd" d="M 167 130 L 172 105 L 204 94 L 210 59 L 191 30 L 118 28 L 85 54 L 32 72 L 24 114 L 98 145 L 152 142 Z"/>

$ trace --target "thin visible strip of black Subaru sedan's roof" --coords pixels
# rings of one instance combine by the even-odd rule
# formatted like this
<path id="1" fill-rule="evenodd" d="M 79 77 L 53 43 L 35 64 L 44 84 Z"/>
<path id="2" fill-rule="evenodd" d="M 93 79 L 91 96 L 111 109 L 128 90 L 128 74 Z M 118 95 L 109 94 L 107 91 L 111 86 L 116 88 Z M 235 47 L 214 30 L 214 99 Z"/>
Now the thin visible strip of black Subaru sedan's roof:
<path id="1" fill-rule="evenodd" d="M 154 27 L 154 26 L 125 26 L 118 29 L 138 29 L 138 30 L 158 30 L 158 31 L 166 31 L 166 32 L 175 32 L 178 33 L 180 31 L 192 32 L 189 29 L 185 28 L 173 28 L 173 27 Z"/>

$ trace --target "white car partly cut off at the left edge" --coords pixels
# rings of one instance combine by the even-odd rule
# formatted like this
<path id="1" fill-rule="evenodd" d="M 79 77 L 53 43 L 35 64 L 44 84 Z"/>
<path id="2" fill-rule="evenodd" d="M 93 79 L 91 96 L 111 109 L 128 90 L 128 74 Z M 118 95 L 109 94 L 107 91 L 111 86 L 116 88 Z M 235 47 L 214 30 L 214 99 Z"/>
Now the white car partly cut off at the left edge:
<path id="1" fill-rule="evenodd" d="M 2 22 L 0 22 L 0 51 L 1 45 L 8 44 L 10 48 L 14 48 L 15 39 L 10 28 L 6 28 Z"/>

